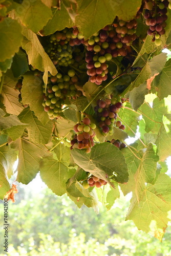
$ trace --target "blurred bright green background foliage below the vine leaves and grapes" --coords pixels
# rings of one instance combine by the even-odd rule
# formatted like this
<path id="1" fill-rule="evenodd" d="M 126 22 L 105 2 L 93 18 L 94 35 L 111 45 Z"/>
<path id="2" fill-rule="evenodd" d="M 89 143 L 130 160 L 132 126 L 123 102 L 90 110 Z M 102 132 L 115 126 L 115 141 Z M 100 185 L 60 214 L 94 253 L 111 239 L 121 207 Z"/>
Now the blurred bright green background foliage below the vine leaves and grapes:
<path id="1" fill-rule="evenodd" d="M 171 256 L 171 225 L 160 243 L 132 221 L 124 221 L 130 195 L 121 196 L 110 211 L 100 206 L 97 215 L 45 186 L 36 190 L 36 179 L 29 186 L 18 183 L 16 202 L 9 202 L 10 255 Z M 3 201 L 0 210 L 3 216 Z M 0 237 L 4 237 L 3 227 Z M 6 254 L 0 248 L 2 255 Z"/>

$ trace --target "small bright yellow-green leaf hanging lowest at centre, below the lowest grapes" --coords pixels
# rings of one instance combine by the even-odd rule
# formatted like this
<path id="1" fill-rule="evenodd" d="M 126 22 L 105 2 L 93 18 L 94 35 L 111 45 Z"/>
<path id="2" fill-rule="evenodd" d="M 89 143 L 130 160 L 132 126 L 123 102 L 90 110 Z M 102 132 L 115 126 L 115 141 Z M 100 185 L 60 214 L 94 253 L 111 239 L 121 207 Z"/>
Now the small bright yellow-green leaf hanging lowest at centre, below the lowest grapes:
<path id="1" fill-rule="evenodd" d="M 102 186 L 96 189 L 99 201 L 106 207 L 107 210 L 110 210 L 115 200 L 119 198 L 120 193 L 118 189 L 118 183 L 114 182 L 114 187 L 111 187 L 109 184 Z"/>

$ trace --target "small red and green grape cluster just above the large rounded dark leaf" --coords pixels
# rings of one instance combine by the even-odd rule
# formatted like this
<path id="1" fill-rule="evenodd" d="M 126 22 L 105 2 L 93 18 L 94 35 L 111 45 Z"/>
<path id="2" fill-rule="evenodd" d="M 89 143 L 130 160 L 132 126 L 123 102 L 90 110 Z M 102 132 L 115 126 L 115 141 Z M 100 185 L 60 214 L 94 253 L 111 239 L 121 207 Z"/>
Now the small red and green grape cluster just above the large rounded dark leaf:
<path id="1" fill-rule="evenodd" d="M 84 117 L 81 122 L 77 123 L 73 130 L 76 133 L 71 140 L 71 147 L 73 148 L 79 148 L 80 150 L 82 148 L 87 149 L 87 153 L 90 153 L 91 147 L 94 146 L 94 140 L 95 132 L 93 131 L 96 128 L 95 123 L 91 123 L 90 119 L 88 117 Z"/>

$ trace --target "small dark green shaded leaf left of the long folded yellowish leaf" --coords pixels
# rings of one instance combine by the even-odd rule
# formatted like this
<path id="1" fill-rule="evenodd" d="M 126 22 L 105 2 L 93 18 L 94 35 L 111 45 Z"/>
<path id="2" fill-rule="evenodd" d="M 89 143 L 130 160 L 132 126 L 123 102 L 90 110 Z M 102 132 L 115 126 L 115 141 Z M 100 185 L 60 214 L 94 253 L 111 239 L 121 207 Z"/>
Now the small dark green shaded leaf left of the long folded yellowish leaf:
<path id="1" fill-rule="evenodd" d="M 17 53 L 15 53 L 11 69 L 14 77 L 19 77 L 27 71 L 30 71 L 27 55 L 22 50 L 19 50 Z"/>

